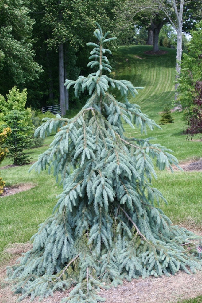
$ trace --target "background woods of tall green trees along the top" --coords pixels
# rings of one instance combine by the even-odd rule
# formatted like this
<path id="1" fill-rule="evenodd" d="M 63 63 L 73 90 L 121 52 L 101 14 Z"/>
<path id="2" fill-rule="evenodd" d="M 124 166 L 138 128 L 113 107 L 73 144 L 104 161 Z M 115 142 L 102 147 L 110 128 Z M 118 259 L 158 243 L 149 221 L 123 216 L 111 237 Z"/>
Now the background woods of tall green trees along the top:
<path id="1" fill-rule="evenodd" d="M 14 85 L 20 91 L 26 88 L 26 107 L 41 110 L 60 104 L 65 115 L 67 109 L 78 108 L 86 100 L 85 95 L 75 98 L 71 89 L 68 93 L 64 80 L 87 74 L 89 49 L 85 45 L 95 20 L 119 38 L 119 45 L 153 45 L 155 52 L 159 45 L 173 47 L 178 55 L 179 41 L 187 51 L 185 34 L 195 29 L 200 8 L 200 2 L 184 0 L 102 0 L 96 5 L 93 0 L 2 0 L 0 94 L 5 97 Z M 183 21 L 181 28 L 179 18 Z"/>

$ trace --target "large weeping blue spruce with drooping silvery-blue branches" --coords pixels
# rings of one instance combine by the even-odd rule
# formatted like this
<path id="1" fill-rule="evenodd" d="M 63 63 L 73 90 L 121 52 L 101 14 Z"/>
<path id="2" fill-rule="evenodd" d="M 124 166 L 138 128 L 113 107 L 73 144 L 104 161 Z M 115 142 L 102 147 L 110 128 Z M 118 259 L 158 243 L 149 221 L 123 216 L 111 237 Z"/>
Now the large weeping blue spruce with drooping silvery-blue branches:
<path id="1" fill-rule="evenodd" d="M 153 160 L 161 170 L 172 170 L 178 161 L 149 139 L 125 136 L 123 122 L 141 132 L 158 125 L 129 103 L 128 94 L 137 94 L 131 82 L 109 78 L 106 55 L 111 52 L 105 45 L 115 38 L 97 26 L 98 43 L 87 44 L 94 47 L 88 66 L 97 72 L 65 83 L 67 89 L 73 85 L 75 95 L 89 91 L 86 105 L 72 119 L 46 118 L 35 133 L 44 138 L 59 128 L 34 168 L 40 172 L 49 166 L 64 190 L 32 237 L 33 248 L 9 268 L 20 300 L 31 295 L 40 301 L 55 290 L 73 288 L 62 302 L 96 303 L 104 301 L 100 287 L 123 279 L 201 269 L 183 245 L 191 232 L 171 225 L 156 207 L 166 200 L 151 185 Z M 109 88 L 120 90 L 121 102 Z"/>

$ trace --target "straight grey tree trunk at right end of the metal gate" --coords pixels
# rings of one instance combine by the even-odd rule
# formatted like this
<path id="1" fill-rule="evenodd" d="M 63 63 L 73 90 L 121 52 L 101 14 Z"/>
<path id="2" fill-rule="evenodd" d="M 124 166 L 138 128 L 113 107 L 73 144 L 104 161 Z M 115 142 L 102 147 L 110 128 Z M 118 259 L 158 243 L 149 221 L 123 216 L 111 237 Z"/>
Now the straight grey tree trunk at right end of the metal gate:
<path id="1" fill-rule="evenodd" d="M 64 87 L 64 45 L 59 45 L 59 86 L 60 86 L 60 106 L 61 115 L 64 116 L 66 113 L 65 107 L 65 87 Z"/>

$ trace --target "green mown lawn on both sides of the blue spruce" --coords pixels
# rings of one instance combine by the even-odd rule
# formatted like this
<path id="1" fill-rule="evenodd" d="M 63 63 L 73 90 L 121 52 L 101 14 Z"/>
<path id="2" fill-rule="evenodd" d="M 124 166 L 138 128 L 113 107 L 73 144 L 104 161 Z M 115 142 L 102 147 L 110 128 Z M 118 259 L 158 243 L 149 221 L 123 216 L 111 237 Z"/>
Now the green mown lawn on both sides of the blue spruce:
<path id="1" fill-rule="evenodd" d="M 168 54 L 145 55 L 144 52 L 149 49 L 150 46 L 120 47 L 120 53 L 113 57 L 117 64 L 114 76 L 132 81 L 135 86 L 145 87 L 135 99 L 130 98 L 129 101 L 140 105 L 142 112 L 158 123 L 159 112 L 163 111 L 164 104 L 171 105 L 174 98 L 176 53 L 173 49 L 161 48 L 167 50 Z M 183 134 L 185 125 L 182 114 L 175 112 L 173 118 L 174 123 L 163 125 L 162 130 L 157 128 L 153 132 L 148 131 L 147 135 L 141 135 L 138 129 L 127 125 L 125 132 L 132 137 L 155 137 L 156 143 L 172 149 L 180 161 L 202 157 L 202 141 L 187 140 Z M 31 161 L 36 161 L 52 140 L 53 136 L 46 138 L 46 146 L 28 150 Z M 6 159 L 1 166 L 9 164 L 11 162 Z M 3 252 L 9 243 L 27 242 L 37 231 L 38 224 L 51 215 L 55 197 L 62 189 L 46 171 L 40 175 L 35 171 L 28 173 L 30 167 L 25 165 L 0 171 L 7 186 L 27 182 L 36 185 L 28 191 L 0 198 L 0 261 L 9 258 Z M 153 185 L 168 200 L 168 205 L 161 205 L 165 214 L 174 223 L 192 222 L 202 228 L 202 172 L 176 171 L 171 174 L 170 171 L 158 171 L 157 175 L 158 179 L 153 181 Z M 198 303 L 202 298 L 194 300 L 184 303 Z"/>

